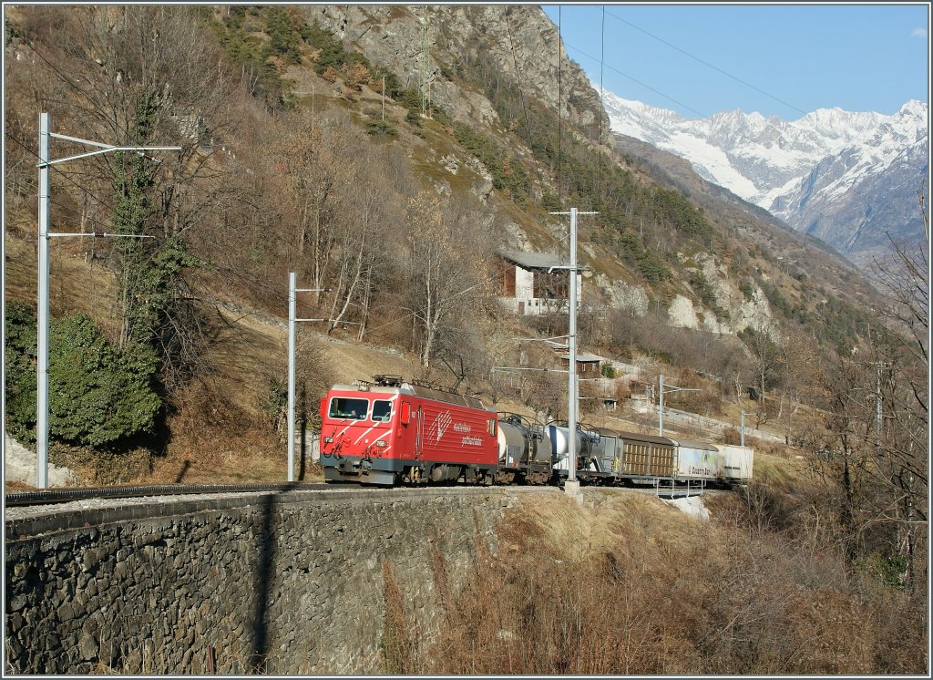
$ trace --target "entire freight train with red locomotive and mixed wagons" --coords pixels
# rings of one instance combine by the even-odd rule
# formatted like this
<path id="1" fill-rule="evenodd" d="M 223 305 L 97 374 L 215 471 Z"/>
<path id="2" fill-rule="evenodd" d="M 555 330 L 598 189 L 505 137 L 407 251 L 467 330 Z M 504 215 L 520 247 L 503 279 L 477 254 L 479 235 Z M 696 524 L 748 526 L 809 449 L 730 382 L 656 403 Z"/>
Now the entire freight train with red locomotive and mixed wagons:
<path id="1" fill-rule="evenodd" d="M 320 463 L 327 481 L 717 484 L 749 481 L 749 447 L 652 437 L 496 412 L 480 399 L 397 376 L 334 385 L 321 400 Z"/>

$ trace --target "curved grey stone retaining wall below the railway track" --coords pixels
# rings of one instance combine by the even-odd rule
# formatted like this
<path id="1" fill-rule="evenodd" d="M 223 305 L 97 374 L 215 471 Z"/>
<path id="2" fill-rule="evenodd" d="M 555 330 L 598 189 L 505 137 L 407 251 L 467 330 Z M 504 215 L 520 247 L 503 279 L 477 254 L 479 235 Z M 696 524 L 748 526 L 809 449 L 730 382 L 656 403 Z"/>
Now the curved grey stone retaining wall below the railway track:
<path id="1" fill-rule="evenodd" d="M 497 521 L 525 493 L 291 491 L 7 508 L 5 671 L 385 673 L 383 563 L 432 638 L 432 557 L 458 589 L 477 541 L 494 551 Z"/>

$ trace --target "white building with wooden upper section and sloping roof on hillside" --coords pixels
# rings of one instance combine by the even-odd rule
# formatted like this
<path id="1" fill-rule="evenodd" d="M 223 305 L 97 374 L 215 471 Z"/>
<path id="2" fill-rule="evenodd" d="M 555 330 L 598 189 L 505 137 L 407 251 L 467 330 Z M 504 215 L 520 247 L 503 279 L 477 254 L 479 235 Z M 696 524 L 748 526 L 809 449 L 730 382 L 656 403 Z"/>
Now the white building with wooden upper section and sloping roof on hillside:
<path id="1" fill-rule="evenodd" d="M 567 271 L 548 271 L 551 267 L 568 267 L 565 257 L 519 250 L 499 250 L 496 257 L 502 274 L 499 300 L 505 307 L 518 314 L 566 312 Z M 582 277 L 577 272 L 578 302 L 582 299 L 582 287 Z"/>

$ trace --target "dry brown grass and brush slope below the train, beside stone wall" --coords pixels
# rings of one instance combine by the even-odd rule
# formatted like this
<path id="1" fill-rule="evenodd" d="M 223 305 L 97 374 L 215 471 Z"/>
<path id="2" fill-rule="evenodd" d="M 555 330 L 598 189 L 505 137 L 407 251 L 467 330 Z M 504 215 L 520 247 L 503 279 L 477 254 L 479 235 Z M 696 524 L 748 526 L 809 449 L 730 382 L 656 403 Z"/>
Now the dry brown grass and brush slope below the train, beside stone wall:
<path id="1" fill-rule="evenodd" d="M 916 603 L 848 573 L 815 535 L 756 525 L 740 495 L 712 505 L 708 523 L 623 491 L 513 512 L 498 554 L 480 549 L 459 596 L 439 598 L 441 637 L 409 672 L 923 672 Z M 445 577 L 436 567 L 441 593 Z M 417 646 L 408 631 L 395 648 Z"/>

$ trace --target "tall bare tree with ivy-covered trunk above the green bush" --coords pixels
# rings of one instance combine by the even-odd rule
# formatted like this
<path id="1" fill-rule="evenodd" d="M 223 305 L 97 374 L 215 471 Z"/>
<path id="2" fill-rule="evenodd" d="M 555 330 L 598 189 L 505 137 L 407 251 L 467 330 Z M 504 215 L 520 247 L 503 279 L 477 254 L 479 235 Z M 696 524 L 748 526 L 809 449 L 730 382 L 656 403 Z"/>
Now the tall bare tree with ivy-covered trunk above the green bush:
<path id="1" fill-rule="evenodd" d="M 154 237 L 106 247 L 122 282 L 121 341 L 157 349 L 170 392 L 201 366 L 204 344 L 186 278 L 197 262 L 188 231 L 210 223 L 233 187 L 222 149 L 234 128 L 235 88 L 204 30 L 189 7 L 154 6 L 39 7 L 23 29 L 48 86 L 28 105 L 48 111 L 57 132 L 117 146 L 182 146 L 159 158 L 105 154 L 61 170 L 68 191 L 104 206 L 97 220 Z"/>

